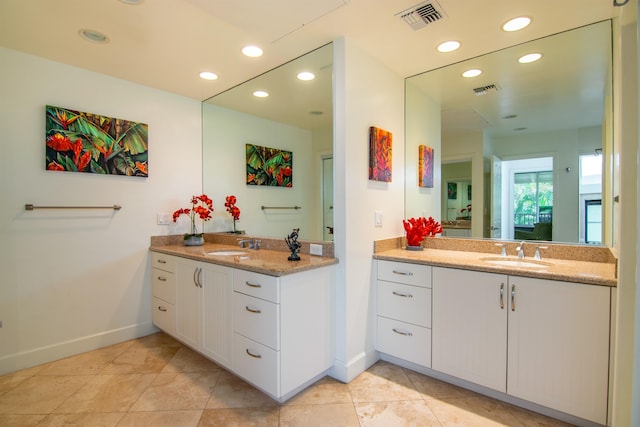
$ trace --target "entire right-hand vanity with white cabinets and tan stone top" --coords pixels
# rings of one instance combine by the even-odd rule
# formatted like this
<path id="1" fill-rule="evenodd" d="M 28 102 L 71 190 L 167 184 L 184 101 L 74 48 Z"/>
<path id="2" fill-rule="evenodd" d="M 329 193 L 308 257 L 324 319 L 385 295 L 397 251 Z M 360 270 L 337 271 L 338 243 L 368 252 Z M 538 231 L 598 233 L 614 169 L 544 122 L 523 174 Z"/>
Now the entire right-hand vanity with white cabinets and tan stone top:
<path id="1" fill-rule="evenodd" d="M 531 244 L 519 259 L 500 256 L 494 242 L 434 240 L 438 248 L 374 254 L 383 359 L 534 410 L 551 409 L 552 416 L 606 425 L 617 282 L 608 250 L 584 254 L 581 247 L 578 259 L 537 260 Z M 444 241 L 476 247 L 451 250 Z M 515 243 L 507 245 L 514 254 Z"/>

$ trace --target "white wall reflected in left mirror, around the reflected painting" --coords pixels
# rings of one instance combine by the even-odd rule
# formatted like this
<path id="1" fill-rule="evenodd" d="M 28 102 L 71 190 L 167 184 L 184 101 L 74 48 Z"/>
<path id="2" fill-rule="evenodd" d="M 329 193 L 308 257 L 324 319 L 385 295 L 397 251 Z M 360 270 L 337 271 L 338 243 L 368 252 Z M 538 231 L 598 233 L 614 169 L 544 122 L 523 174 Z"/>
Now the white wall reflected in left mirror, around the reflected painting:
<path id="1" fill-rule="evenodd" d="M 203 104 L 203 182 L 214 201 L 209 232 L 233 228 L 226 211 L 226 196 L 238 198 L 240 221 L 236 228 L 247 234 L 284 239 L 300 228 L 304 239 L 321 239 L 320 200 L 312 132 L 262 119 L 216 105 Z M 265 187 L 246 184 L 246 144 L 293 152 L 293 186 Z M 261 206 L 302 206 L 300 210 L 262 210 Z"/>

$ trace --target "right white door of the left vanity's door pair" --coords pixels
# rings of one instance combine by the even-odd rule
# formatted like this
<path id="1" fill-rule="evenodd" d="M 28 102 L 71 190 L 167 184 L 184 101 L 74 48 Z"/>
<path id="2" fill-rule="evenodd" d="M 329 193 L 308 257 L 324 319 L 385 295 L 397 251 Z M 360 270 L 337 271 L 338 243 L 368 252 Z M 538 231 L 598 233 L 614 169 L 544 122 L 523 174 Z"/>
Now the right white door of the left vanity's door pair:
<path id="1" fill-rule="evenodd" d="M 233 327 L 233 270 L 214 264 L 202 268 L 202 351 L 225 367 L 231 367 Z"/>

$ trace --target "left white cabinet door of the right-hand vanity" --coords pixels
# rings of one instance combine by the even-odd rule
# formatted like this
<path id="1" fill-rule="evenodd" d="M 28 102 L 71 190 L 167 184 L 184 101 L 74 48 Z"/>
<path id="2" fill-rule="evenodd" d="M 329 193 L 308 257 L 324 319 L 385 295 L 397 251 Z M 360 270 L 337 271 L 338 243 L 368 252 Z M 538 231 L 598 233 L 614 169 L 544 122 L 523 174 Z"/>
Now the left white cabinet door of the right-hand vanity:
<path id="1" fill-rule="evenodd" d="M 507 285 L 500 274 L 433 268 L 434 370 L 506 391 Z"/>

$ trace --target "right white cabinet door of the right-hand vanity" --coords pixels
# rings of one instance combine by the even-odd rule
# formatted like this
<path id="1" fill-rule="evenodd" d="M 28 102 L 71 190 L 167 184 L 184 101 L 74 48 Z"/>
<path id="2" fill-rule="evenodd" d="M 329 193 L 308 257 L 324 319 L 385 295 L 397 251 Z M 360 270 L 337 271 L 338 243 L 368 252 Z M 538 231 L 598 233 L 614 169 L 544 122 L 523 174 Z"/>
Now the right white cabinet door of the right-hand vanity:
<path id="1" fill-rule="evenodd" d="M 610 288 L 510 277 L 512 288 L 507 393 L 605 424 Z"/>

